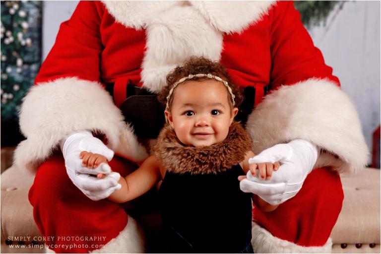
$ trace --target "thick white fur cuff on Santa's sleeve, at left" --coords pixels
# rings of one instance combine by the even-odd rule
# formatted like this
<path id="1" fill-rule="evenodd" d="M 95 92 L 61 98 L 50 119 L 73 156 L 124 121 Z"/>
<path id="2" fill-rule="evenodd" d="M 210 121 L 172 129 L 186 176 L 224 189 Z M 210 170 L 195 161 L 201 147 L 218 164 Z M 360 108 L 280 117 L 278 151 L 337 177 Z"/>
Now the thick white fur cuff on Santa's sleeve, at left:
<path id="1" fill-rule="evenodd" d="M 68 77 L 32 87 L 23 99 L 20 128 L 27 139 L 17 146 L 14 163 L 32 171 L 61 139 L 85 129 L 101 131 L 112 150 L 133 161 L 147 157 L 110 94 L 93 81 Z"/>

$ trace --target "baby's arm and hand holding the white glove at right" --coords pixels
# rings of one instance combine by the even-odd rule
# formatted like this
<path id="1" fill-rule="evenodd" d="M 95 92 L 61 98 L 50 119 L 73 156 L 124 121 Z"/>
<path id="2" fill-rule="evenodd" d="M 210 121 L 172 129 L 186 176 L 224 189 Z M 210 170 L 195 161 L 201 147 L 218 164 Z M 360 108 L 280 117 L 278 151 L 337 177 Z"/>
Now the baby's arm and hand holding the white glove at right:
<path id="1" fill-rule="evenodd" d="M 253 151 L 248 151 L 245 155 L 244 161 L 240 163 L 245 174 L 247 174 L 248 171 L 250 170 L 250 172 L 253 174 L 253 176 L 256 176 L 256 169 L 258 169 L 259 170 L 259 176 L 261 179 L 270 179 L 272 176 L 272 172 L 277 171 L 279 169 L 279 166 L 280 166 L 279 162 L 275 162 L 274 164 L 270 163 L 270 162 L 258 163 L 258 164 L 249 164 L 249 159 L 253 158 L 254 156 L 255 156 L 255 154 Z M 238 180 L 241 181 L 245 178 L 246 178 L 246 175 L 240 176 L 240 177 L 238 177 Z M 278 205 L 271 205 L 271 204 L 267 203 L 266 201 L 261 199 L 256 194 L 253 194 L 252 199 L 254 201 L 255 206 L 258 207 L 259 209 L 261 209 L 262 211 L 265 211 L 265 212 L 271 212 L 278 207 Z"/>

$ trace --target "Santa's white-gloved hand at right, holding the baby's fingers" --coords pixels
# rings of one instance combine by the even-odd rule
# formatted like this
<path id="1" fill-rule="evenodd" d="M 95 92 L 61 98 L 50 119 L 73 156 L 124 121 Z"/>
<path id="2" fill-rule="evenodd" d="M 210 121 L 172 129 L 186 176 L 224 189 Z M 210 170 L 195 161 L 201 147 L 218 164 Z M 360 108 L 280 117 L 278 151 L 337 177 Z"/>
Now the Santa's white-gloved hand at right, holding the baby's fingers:
<path id="1" fill-rule="evenodd" d="M 272 205 L 283 203 L 302 188 L 317 158 L 316 145 L 307 140 L 295 139 L 287 144 L 274 145 L 249 159 L 249 164 L 279 161 L 281 166 L 272 178 L 261 180 L 248 171 L 247 178 L 240 182 L 240 188 L 244 192 L 257 194 Z"/>

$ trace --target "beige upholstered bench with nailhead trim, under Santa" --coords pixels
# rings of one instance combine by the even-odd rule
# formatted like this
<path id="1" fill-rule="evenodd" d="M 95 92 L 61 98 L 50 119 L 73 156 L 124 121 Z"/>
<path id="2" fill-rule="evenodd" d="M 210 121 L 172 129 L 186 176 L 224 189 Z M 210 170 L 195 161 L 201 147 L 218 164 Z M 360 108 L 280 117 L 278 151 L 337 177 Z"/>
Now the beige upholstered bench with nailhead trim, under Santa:
<path id="1" fill-rule="evenodd" d="M 345 198 L 331 234 L 332 252 L 380 253 L 380 170 L 368 168 L 341 179 Z M 27 196 L 32 183 L 33 176 L 16 167 L 1 174 L 1 253 L 44 252 Z"/>

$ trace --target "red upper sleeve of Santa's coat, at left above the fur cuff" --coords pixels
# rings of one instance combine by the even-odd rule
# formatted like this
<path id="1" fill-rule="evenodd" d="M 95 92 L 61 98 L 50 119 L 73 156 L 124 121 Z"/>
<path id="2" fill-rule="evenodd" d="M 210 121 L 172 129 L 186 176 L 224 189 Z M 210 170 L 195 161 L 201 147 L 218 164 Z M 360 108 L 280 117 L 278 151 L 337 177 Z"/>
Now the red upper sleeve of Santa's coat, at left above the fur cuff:
<path id="1" fill-rule="evenodd" d="M 52 50 L 41 66 L 35 83 L 76 76 L 99 81 L 102 50 L 100 22 L 103 3 L 80 1 L 71 16 L 60 26 Z"/>

